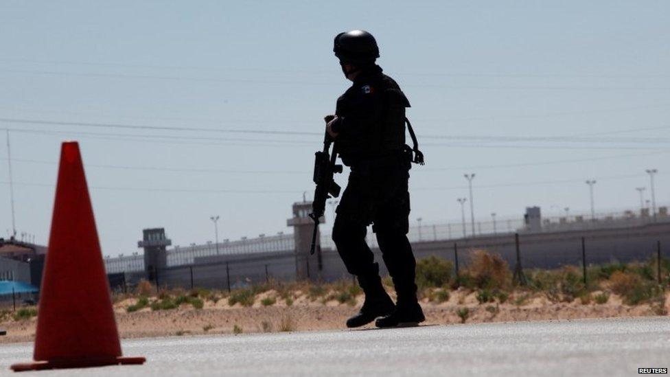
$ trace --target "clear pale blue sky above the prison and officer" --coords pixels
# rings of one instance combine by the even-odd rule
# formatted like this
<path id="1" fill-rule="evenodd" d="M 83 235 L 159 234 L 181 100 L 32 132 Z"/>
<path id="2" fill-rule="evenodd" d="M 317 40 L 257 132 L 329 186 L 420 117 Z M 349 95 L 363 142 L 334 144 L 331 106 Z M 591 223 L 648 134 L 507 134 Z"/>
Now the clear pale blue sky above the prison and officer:
<path id="1" fill-rule="evenodd" d="M 291 203 L 313 190 L 321 137 L 311 133 L 348 87 L 332 38 L 355 28 L 378 38 L 379 63 L 406 92 L 425 145 L 427 164 L 411 173 L 412 219 L 458 221 L 465 172 L 476 173 L 481 220 L 527 205 L 586 211 L 586 179 L 598 181 L 599 212 L 635 209 L 646 168 L 660 171 L 657 202 L 670 202 L 667 1 L 3 1 L 0 10 L 16 227 L 38 242 L 65 139 L 80 141 L 105 254 L 135 251 L 144 227 L 165 227 L 175 244 L 211 240 L 213 214 L 221 239 L 290 231 Z"/>

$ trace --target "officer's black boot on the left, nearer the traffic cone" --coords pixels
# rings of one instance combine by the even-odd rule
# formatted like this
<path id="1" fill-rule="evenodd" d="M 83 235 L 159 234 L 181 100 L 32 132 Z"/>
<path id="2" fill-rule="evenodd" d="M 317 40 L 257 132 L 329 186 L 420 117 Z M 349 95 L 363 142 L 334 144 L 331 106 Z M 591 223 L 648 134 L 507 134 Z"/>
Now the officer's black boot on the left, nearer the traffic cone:
<path id="1" fill-rule="evenodd" d="M 359 276 L 358 283 L 365 292 L 365 301 L 358 314 L 347 319 L 347 328 L 358 328 L 374 321 L 377 317 L 390 315 L 395 310 L 393 300 L 382 286 L 379 275 Z"/>

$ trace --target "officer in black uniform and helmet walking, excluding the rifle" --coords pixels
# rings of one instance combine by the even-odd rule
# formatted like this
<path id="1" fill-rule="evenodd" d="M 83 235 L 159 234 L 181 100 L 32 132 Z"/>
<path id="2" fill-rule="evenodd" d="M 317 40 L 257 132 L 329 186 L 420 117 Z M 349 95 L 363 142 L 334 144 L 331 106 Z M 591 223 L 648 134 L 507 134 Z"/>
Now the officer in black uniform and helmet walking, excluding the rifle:
<path id="1" fill-rule="evenodd" d="M 347 271 L 358 277 L 365 292 L 360 312 L 347 320 L 347 327 L 375 319 L 380 328 L 416 325 L 425 318 L 417 301 L 416 261 L 406 236 L 408 179 L 411 162 L 423 163 L 423 156 L 411 126 L 414 150 L 405 144 L 405 108 L 410 104 L 396 82 L 376 65 L 379 49 L 372 34 L 340 33 L 333 50 L 353 84 L 338 98 L 335 115 L 326 118 L 334 148 L 351 168 L 332 238 Z M 370 224 L 393 278 L 396 304 L 384 290 L 379 265 L 365 242 Z"/>

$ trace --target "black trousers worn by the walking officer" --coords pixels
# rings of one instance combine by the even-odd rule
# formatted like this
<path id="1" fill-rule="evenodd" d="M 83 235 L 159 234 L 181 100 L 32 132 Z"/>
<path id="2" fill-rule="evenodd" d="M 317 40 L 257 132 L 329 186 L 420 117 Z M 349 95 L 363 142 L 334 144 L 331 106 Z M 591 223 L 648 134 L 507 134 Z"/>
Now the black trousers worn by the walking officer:
<path id="1" fill-rule="evenodd" d="M 407 239 L 408 179 L 408 169 L 398 164 L 352 166 L 332 234 L 347 271 L 366 281 L 375 280 L 378 266 L 365 242 L 367 226 L 372 224 L 399 299 L 415 297 L 417 290 L 416 260 Z"/>

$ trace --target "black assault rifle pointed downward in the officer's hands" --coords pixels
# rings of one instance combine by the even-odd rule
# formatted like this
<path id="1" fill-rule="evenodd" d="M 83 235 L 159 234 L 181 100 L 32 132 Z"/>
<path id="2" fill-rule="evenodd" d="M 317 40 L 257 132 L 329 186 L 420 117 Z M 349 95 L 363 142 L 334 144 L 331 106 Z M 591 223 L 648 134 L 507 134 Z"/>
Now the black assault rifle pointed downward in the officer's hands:
<path id="1" fill-rule="evenodd" d="M 328 123 L 333 118 L 333 115 L 328 115 L 324 120 Z M 323 150 L 316 151 L 314 154 L 316 157 L 314 159 L 313 180 L 316 183 L 316 188 L 314 189 L 314 201 L 312 201 L 312 213 L 310 213 L 310 218 L 314 220 L 314 233 L 312 233 L 312 247 L 310 248 L 310 254 L 312 255 L 314 249 L 316 249 L 316 232 L 319 230 L 319 222 L 325 212 L 325 201 L 328 198 L 340 196 L 340 186 L 335 183 L 333 174 L 341 173 L 342 165 L 335 163 L 337 152 L 335 147 L 330 152 L 331 144 L 333 144 L 333 139 L 326 132 L 323 139 Z"/>

